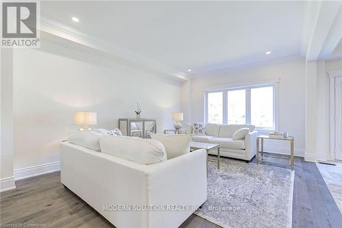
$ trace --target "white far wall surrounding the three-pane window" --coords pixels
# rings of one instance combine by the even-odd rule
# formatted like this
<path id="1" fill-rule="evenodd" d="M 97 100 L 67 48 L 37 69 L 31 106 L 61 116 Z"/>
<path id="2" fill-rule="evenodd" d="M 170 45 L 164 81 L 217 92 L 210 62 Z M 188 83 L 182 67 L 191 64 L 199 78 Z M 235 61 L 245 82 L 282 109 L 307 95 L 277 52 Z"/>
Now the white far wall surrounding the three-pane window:
<path id="1" fill-rule="evenodd" d="M 272 79 L 280 79 L 278 130 L 288 131 L 294 136 L 295 155 L 303 156 L 305 150 L 305 60 L 299 56 L 229 68 L 226 71 L 194 77 L 191 81 L 191 121 L 203 121 L 206 88 L 257 84 Z M 266 142 L 265 146 L 268 150 L 276 150 L 280 153 L 288 153 L 289 148 L 289 144 L 285 142 Z"/>

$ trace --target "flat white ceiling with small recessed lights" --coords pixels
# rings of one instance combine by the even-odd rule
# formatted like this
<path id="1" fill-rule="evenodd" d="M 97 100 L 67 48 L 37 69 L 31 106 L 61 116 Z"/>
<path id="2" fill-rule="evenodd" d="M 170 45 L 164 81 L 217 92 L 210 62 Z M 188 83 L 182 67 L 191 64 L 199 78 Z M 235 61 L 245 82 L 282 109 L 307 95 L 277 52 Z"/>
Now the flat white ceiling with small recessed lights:
<path id="1" fill-rule="evenodd" d="M 190 74 L 300 53 L 304 1 L 42 1 L 42 18 Z M 71 20 L 79 18 L 79 23 Z M 272 54 L 265 55 L 266 51 Z"/>

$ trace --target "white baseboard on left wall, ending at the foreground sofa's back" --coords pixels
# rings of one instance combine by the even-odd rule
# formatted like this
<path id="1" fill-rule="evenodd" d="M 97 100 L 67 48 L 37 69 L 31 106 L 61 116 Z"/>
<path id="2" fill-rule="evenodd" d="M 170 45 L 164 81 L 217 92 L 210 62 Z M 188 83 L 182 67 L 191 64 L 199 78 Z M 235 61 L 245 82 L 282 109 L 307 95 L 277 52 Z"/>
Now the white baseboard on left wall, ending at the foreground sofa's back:
<path id="1" fill-rule="evenodd" d="M 53 173 L 61 169 L 61 162 L 51 162 L 47 164 L 41 164 L 38 166 L 31 166 L 27 168 L 18 168 L 14 170 L 14 179 L 26 179 L 29 177 L 36 177 L 45 173 Z"/>

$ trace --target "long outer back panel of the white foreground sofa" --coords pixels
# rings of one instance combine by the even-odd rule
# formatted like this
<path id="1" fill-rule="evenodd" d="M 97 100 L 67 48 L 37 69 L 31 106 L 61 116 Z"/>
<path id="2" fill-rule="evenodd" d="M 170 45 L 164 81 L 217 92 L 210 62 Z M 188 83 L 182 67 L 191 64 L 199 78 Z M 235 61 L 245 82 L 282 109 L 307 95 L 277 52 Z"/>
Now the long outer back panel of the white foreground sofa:
<path id="1" fill-rule="evenodd" d="M 104 210 L 146 204 L 146 165 L 62 142 L 61 182 L 116 227 L 146 227 L 146 212 Z"/>

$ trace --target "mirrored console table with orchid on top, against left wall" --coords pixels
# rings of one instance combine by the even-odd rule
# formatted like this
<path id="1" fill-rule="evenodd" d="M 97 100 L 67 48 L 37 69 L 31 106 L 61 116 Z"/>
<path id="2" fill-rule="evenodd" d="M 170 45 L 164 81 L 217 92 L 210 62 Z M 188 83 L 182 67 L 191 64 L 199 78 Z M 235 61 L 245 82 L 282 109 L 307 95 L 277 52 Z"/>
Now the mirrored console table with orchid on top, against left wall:
<path id="1" fill-rule="evenodd" d="M 119 129 L 124 136 L 150 138 L 157 132 L 157 125 L 152 118 L 119 118 Z"/>

